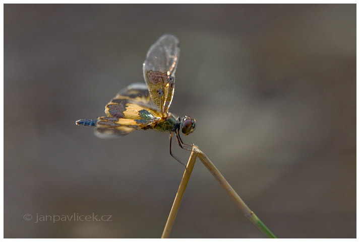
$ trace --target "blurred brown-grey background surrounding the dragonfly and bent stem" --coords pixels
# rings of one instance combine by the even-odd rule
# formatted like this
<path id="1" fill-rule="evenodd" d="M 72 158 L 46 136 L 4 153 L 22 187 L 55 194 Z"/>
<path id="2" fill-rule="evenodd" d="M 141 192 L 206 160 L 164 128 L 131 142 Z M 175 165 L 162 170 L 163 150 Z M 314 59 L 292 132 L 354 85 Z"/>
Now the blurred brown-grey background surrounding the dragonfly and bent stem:
<path id="1" fill-rule="evenodd" d="M 160 237 L 184 167 L 166 133 L 96 118 L 181 41 L 170 112 L 278 237 L 356 236 L 355 5 L 5 5 L 4 236 Z M 189 152 L 174 145 L 187 162 Z M 112 215 L 112 221 L 36 216 Z M 32 220 L 24 219 L 31 214 Z M 198 160 L 171 237 L 264 237 Z"/>

